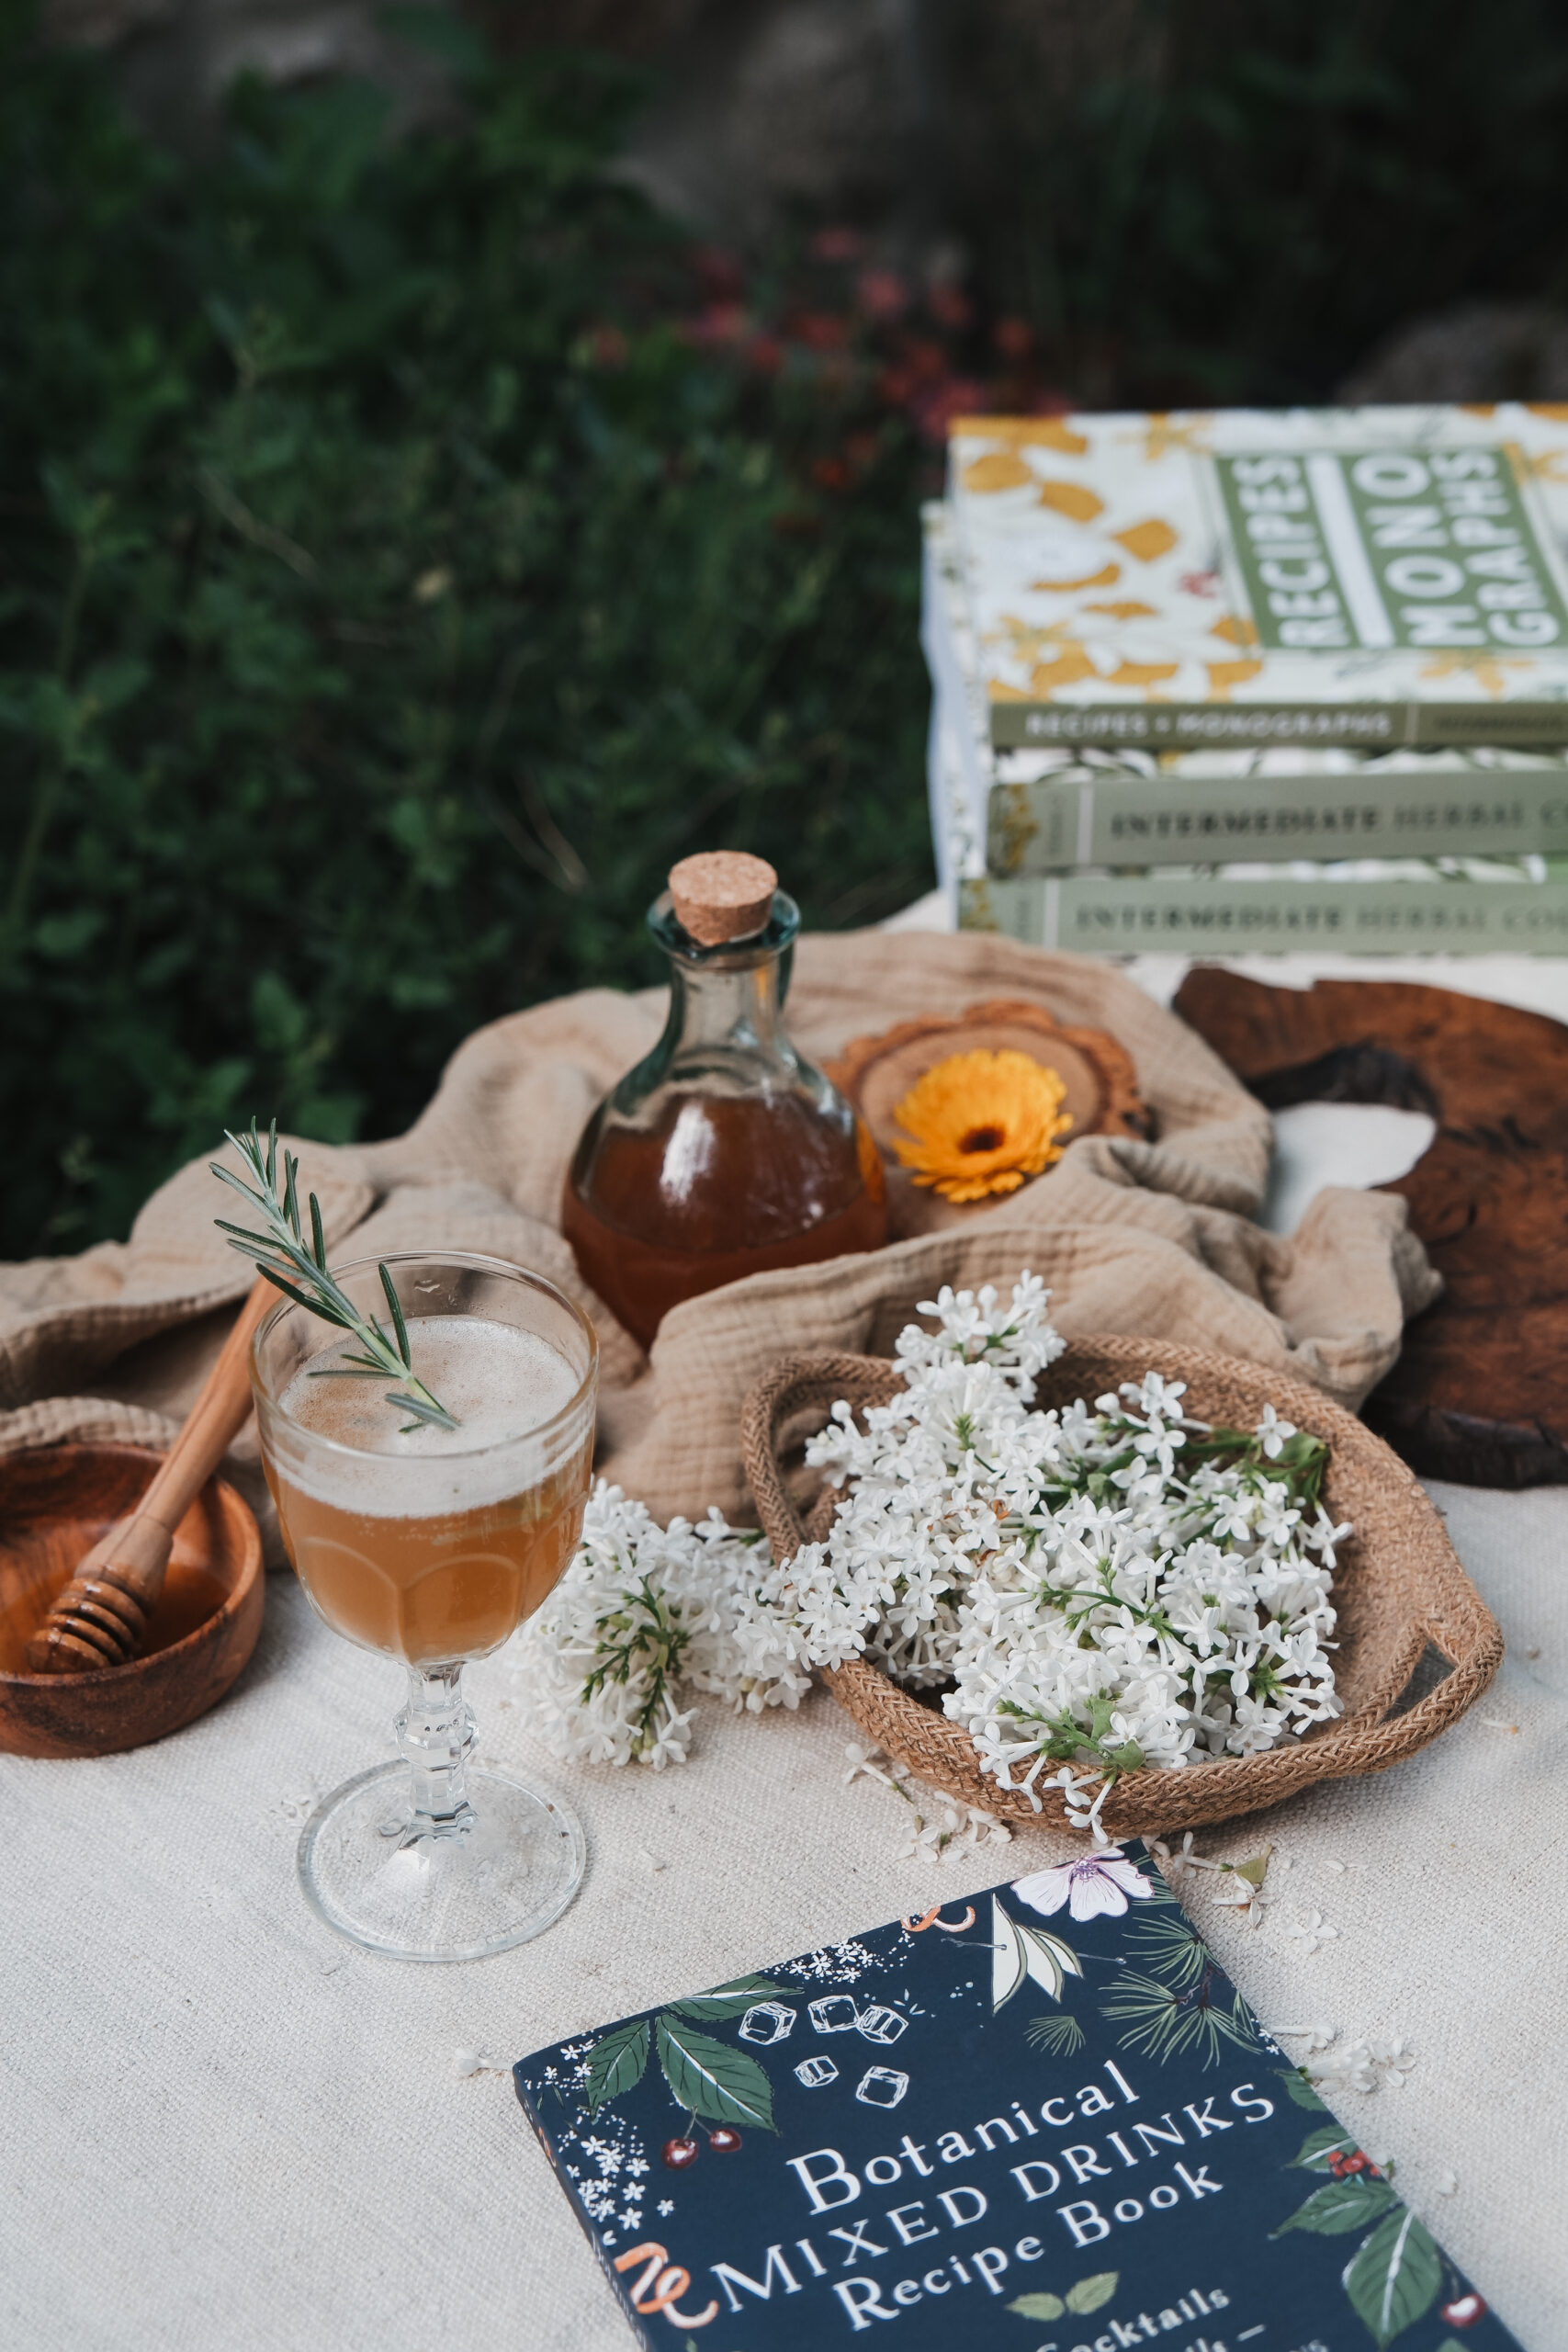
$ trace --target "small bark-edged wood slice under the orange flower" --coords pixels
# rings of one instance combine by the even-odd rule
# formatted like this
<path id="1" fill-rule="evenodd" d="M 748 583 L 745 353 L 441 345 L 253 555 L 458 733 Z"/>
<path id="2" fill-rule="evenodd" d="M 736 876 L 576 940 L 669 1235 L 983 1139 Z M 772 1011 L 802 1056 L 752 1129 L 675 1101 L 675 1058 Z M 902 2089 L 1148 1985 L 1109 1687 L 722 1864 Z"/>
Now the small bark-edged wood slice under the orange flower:
<path id="1" fill-rule="evenodd" d="M 1133 1056 L 1110 1030 L 1070 1028 L 1023 997 L 990 997 L 971 1004 L 957 1016 L 924 1014 L 917 1021 L 900 1021 L 877 1037 L 851 1037 L 844 1051 L 825 1063 L 827 1077 L 839 1094 L 846 1094 L 872 1131 L 889 1178 L 889 1242 L 905 1242 L 914 1232 L 938 1232 L 943 1225 L 961 1225 L 971 1216 L 985 1216 L 1009 1192 L 990 1200 L 950 1202 L 940 1192 L 917 1185 L 910 1169 L 898 1160 L 896 1143 L 907 1136 L 893 1112 L 910 1087 L 947 1061 L 950 1054 L 1013 1049 L 1030 1061 L 1056 1070 L 1065 1091 L 1063 1110 L 1072 1127 L 1063 1136 L 1150 1136 L 1152 1120 L 1138 1094 Z M 1044 1171 L 1046 1176 L 1051 1169 Z M 1032 1178 L 1041 1183 L 1039 1176 Z"/>

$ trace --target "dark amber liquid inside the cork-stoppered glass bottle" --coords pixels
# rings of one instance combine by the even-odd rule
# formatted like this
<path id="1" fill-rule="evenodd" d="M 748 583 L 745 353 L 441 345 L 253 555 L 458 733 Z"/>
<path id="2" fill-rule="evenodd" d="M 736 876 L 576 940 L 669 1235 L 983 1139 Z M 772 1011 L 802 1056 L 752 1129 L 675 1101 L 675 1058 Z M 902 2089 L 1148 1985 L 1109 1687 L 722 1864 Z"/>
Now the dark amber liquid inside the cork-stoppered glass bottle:
<path id="1" fill-rule="evenodd" d="M 832 1127 L 790 1094 L 672 1091 L 649 1127 L 590 1124 L 562 1230 L 583 1279 L 646 1348 L 682 1298 L 877 1249 L 882 1162 L 860 1122 Z"/>

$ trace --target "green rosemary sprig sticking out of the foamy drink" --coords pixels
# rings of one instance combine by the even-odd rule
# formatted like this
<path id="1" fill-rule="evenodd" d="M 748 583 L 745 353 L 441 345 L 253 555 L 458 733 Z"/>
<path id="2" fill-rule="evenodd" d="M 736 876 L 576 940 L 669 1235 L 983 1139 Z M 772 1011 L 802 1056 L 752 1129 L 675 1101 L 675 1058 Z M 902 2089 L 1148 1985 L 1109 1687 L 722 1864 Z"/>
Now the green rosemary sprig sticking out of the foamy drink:
<path id="1" fill-rule="evenodd" d="M 237 1249 L 244 1258 L 254 1258 L 268 1282 L 287 1298 L 294 1298 L 294 1303 L 306 1308 L 306 1312 L 320 1315 L 322 1322 L 336 1324 L 341 1331 L 350 1331 L 353 1338 L 360 1341 L 360 1355 L 346 1355 L 341 1364 L 313 1371 L 308 1378 L 364 1381 L 369 1376 L 381 1376 L 402 1381 L 402 1388 L 388 1390 L 386 1395 L 388 1404 L 397 1404 L 402 1411 L 414 1414 L 414 1421 L 404 1421 L 400 1430 L 402 1437 L 421 1423 L 433 1423 L 440 1430 L 456 1430 L 456 1414 L 449 1414 L 440 1397 L 433 1397 L 425 1383 L 414 1374 L 409 1327 L 402 1319 L 402 1305 L 397 1303 L 397 1291 L 393 1289 L 393 1277 L 386 1265 L 378 1268 L 378 1275 L 393 1317 L 390 1334 L 381 1327 L 376 1315 L 369 1319 L 360 1315 L 348 1294 L 341 1291 L 327 1272 L 322 1211 L 315 1192 L 310 1195 L 310 1240 L 306 1242 L 301 1235 L 296 1190 L 299 1160 L 289 1150 L 282 1155 L 282 1195 L 277 1192 L 277 1120 L 273 1120 L 273 1127 L 268 1129 L 266 1152 L 254 1120 L 249 1136 L 230 1134 L 228 1141 L 240 1152 L 240 1160 L 256 1183 L 244 1183 L 242 1176 L 235 1176 L 233 1169 L 219 1167 L 216 1160 L 209 1160 L 207 1164 L 221 1183 L 230 1185 L 261 1211 L 268 1230 L 249 1232 L 244 1225 L 230 1225 L 228 1218 L 219 1216 L 214 1218 L 219 1232 L 228 1235 L 230 1249 Z"/>

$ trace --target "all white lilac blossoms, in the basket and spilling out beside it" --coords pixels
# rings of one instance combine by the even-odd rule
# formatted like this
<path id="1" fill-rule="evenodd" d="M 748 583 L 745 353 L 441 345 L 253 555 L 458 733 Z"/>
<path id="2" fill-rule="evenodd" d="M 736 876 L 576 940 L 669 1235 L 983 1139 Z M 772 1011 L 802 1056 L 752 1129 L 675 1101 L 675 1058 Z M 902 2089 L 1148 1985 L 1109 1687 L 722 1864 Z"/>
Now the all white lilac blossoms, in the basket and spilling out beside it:
<path id="1" fill-rule="evenodd" d="M 1098 1832 L 1145 1764 L 1255 1755 L 1338 1715 L 1326 1446 L 1265 1406 L 1255 1430 L 1182 1414 L 1147 1374 L 1093 1409 L 1034 1411 L 1063 1338 L 1032 1275 L 924 1303 L 898 1341 L 903 1395 L 846 1404 L 806 1461 L 844 1489 L 832 1531 L 785 1564 L 710 1515 L 661 1531 L 618 1489 L 527 1658 L 557 1755 L 686 1755 L 684 1679 L 733 1705 L 797 1705 L 811 1665 L 865 1656 L 943 1689 L 983 1769 L 1039 1785 Z"/>

